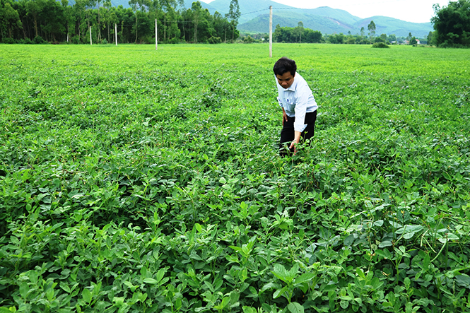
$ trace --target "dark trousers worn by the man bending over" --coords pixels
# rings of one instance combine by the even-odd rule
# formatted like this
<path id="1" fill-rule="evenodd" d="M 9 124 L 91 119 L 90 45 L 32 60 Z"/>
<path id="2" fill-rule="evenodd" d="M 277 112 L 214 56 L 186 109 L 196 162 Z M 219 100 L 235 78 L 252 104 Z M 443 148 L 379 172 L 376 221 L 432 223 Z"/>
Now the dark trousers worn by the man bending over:
<path id="1" fill-rule="evenodd" d="M 300 134 L 300 142 L 306 141 L 307 139 L 313 137 L 313 135 L 315 134 L 316 120 L 317 110 L 315 110 L 315 112 L 305 114 L 305 121 L 303 124 L 307 124 L 307 127 L 305 127 L 304 131 L 302 131 L 302 133 Z M 295 117 L 287 117 L 287 122 L 284 121 L 284 125 L 281 131 L 281 141 L 279 142 L 279 155 L 281 155 L 281 157 L 290 154 L 288 152 L 288 148 L 290 146 L 290 143 L 292 143 L 295 138 L 294 122 Z M 290 149 L 290 152 L 293 153 L 294 148 Z"/>

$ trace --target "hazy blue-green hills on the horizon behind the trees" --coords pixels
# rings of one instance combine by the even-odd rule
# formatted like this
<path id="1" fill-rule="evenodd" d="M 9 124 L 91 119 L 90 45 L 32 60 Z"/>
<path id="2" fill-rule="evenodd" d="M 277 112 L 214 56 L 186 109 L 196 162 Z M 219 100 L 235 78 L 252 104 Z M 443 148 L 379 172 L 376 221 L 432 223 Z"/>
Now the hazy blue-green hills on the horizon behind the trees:
<path id="1" fill-rule="evenodd" d="M 113 6 L 122 5 L 124 8 L 129 8 L 129 0 L 111 0 L 111 2 Z M 184 6 L 191 8 L 192 2 L 184 0 Z M 230 7 L 230 0 L 215 0 L 210 4 L 200 2 L 201 6 L 207 8 L 211 14 L 218 11 L 225 16 Z M 323 34 L 346 34 L 350 31 L 354 35 L 360 33 L 361 27 L 365 28 L 367 34 L 370 20 L 375 23 L 376 35 L 408 36 L 411 33 L 416 37 L 426 37 L 430 31 L 433 31 L 431 23 L 411 23 L 387 16 L 358 18 L 347 11 L 328 6 L 303 9 L 278 4 L 271 0 L 238 0 L 238 4 L 242 16 L 237 28 L 247 32 L 269 33 L 269 6 L 273 6 L 273 31 L 277 24 L 281 27 L 295 27 L 302 21 L 305 28 L 319 30 Z"/>

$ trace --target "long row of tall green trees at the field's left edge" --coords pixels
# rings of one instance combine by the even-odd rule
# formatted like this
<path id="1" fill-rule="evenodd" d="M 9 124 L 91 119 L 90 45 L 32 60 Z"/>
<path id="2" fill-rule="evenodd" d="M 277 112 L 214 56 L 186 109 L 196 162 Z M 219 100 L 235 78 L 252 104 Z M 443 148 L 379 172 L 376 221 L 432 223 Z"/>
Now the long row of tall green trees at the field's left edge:
<path id="1" fill-rule="evenodd" d="M 130 0 L 130 8 L 110 0 L 0 0 L 0 42 L 42 43 L 232 42 L 240 7 L 230 1 L 229 13 L 211 15 L 199 1 L 184 8 L 184 0 Z"/>

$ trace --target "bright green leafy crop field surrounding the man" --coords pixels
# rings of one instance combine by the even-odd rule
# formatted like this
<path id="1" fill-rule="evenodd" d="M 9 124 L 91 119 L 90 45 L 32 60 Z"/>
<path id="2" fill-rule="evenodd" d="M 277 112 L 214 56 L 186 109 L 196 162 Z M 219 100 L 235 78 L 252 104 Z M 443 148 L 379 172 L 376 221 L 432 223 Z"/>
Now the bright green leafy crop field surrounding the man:
<path id="1" fill-rule="evenodd" d="M 468 312 L 468 52 L 369 47 L 0 45 L 1 312 Z"/>

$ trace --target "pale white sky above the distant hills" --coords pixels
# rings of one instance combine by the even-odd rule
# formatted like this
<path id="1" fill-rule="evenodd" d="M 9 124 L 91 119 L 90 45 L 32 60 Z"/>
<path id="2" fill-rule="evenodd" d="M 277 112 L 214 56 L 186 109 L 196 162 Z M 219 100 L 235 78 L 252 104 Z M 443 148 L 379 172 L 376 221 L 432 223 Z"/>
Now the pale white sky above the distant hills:
<path id="1" fill-rule="evenodd" d="M 203 0 L 210 3 L 213 0 Z M 273 0 L 296 8 L 329 6 L 348 11 L 359 18 L 389 16 L 413 23 L 427 23 L 434 16 L 433 4 L 446 6 L 449 1 L 437 0 Z"/>

